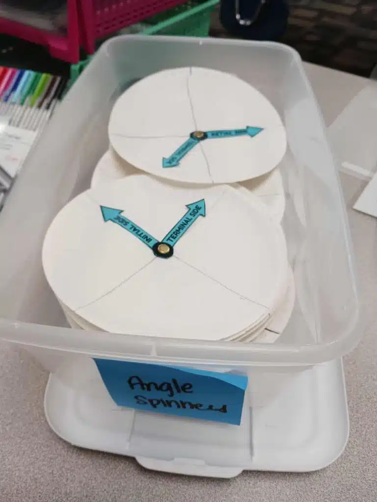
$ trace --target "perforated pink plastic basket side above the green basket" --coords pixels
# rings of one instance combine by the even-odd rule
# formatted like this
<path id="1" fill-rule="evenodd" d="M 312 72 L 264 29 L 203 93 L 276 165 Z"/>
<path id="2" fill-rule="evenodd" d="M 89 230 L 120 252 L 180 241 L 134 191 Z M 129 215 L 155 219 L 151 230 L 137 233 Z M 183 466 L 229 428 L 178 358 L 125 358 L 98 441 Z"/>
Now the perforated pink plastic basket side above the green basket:
<path id="1" fill-rule="evenodd" d="M 83 47 L 95 52 L 96 40 L 112 35 L 186 0 L 77 0 L 83 26 Z"/>

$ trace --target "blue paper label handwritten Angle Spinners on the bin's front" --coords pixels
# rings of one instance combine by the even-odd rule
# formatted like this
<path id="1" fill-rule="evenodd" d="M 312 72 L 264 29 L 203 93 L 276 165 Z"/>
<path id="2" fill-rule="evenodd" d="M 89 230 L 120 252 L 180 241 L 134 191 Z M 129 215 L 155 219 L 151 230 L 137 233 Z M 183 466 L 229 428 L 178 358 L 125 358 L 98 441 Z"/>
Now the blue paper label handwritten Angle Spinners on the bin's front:
<path id="1" fill-rule="evenodd" d="M 239 425 L 247 376 L 142 362 L 95 359 L 118 406 Z"/>

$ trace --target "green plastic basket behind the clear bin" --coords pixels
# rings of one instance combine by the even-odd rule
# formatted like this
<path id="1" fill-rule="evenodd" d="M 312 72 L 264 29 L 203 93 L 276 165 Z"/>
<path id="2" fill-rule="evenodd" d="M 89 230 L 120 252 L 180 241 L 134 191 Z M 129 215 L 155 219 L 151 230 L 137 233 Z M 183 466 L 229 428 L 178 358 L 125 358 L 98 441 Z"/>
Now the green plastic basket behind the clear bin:
<path id="1" fill-rule="evenodd" d="M 186 37 L 207 37 L 210 30 L 211 13 L 219 0 L 190 0 L 173 9 L 156 14 L 135 26 L 132 33 L 142 35 L 176 35 Z M 146 27 L 147 26 L 147 27 Z M 132 30 L 132 27 L 129 27 Z M 139 31 L 140 29 L 140 31 Z M 130 31 L 131 33 L 131 31 Z M 69 87 L 90 62 L 92 56 L 71 65 Z"/>

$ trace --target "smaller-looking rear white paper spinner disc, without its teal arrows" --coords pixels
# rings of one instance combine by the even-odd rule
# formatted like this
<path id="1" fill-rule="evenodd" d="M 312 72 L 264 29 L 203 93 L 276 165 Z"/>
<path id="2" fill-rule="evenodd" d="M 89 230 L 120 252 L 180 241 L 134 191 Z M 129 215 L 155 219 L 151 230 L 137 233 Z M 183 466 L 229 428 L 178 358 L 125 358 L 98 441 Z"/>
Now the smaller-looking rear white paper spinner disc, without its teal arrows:
<path id="1" fill-rule="evenodd" d="M 206 139 L 163 167 L 195 131 L 262 128 L 254 137 Z M 284 157 L 286 132 L 272 104 L 234 75 L 178 68 L 150 75 L 115 103 L 109 138 L 127 162 L 155 176 L 191 183 L 232 183 L 271 171 Z"/>

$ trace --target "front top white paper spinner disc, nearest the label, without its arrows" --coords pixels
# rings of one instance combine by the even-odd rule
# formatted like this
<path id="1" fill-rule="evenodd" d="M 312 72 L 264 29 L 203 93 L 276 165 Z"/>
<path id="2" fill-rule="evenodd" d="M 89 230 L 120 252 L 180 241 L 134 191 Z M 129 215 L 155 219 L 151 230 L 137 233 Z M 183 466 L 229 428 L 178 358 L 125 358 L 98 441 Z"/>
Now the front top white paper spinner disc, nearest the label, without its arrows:
<path id="1" fill-rule="evenodd" d="M 206 202 L 169 259 L 113 221 L 100 206 L 162 240 Z M 42 261 L 55 295 L 104 331 L 219 340 L 258 325 L 286 290 L 287 250 L 265 207 L 228 187 L 172 189 L 148 176 L 106 183 L 56 216 Z"/>

